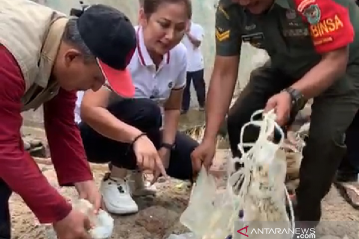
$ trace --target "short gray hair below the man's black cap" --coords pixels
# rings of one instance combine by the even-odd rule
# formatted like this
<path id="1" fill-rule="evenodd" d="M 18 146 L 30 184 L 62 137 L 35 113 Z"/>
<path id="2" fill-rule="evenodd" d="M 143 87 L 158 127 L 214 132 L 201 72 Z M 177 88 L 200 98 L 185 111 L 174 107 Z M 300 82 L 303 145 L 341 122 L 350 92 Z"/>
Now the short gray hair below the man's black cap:
<path id="1" fill-rule="evenodd" d="M 94 60 L 94 55 L 81 38 L 77 28 L 76 18 L 70 18 L 67 22 L 62 40 L 78 49 L 84 55 L 85 60 Z"/>

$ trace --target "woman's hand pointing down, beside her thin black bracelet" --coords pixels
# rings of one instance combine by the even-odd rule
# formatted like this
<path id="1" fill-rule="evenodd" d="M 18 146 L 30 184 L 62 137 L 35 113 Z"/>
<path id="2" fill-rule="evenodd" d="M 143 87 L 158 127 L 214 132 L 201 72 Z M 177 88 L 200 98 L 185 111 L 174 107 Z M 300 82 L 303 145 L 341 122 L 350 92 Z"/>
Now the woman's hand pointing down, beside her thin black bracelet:
<path id="1" fill-rule="evenodd" d="M 149 169 L 154 174 L 156 171 L 159 171 L 163 176 L 167 177 L 166 170 L 158 155 L 157 149 L 146 135 L 136 140 L 133 144 L 133 149 L 136 155 L 137 165 L 142 170 Z"/>

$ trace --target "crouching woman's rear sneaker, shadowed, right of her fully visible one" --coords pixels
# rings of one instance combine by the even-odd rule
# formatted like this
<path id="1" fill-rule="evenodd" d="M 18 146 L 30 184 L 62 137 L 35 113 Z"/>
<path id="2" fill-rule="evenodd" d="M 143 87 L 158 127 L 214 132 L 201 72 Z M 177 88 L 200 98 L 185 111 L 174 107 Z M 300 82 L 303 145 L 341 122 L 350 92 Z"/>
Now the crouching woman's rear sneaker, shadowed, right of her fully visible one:
<path id="1" fill-rule="evenodd" d="M 130 171 L 128 182 L 133 196 L 155 195 L 157 188 L 146 179 L 141 171 Z"/>

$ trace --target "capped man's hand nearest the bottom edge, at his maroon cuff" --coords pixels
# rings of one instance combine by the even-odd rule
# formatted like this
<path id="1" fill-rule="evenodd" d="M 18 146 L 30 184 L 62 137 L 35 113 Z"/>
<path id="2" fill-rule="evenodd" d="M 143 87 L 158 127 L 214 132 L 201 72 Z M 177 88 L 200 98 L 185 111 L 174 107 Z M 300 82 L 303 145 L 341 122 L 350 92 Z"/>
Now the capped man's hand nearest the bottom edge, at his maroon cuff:
<path id="1" fill-rule="evenodd" d="M 59 239 L 91 239 L 88 230 L 92 226 L 88 216 L 76 209 L 72 209 L 64 219 L 53 223 Z"/>

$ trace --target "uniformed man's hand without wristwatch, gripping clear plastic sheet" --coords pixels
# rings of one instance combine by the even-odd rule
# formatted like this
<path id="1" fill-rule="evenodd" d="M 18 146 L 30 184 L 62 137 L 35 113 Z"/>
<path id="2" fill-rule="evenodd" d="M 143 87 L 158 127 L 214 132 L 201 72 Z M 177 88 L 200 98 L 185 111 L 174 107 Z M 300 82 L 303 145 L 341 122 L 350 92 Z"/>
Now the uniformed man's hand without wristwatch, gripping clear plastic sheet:
<path id="1" fill-rule="evenodd" d="M 195 150 L 193 150 L 191 158 L 194 174 L 197 174 L 201 170 L 202 164 L 205 166 L 207 171 L 209 170 L 212 165 L 215 152 L 215 139 L 203 140 L 202 143 L 195 148 Z"/>

